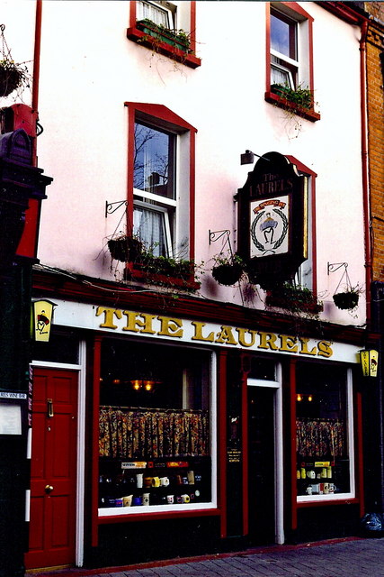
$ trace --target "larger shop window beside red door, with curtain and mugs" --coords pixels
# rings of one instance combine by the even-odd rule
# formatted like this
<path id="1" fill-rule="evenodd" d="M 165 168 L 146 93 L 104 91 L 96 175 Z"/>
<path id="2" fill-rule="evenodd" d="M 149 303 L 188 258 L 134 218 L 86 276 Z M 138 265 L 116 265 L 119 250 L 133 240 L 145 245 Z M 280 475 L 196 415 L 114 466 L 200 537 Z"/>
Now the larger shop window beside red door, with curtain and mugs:
<path id="1" fill-rule="evenodd" d="M 101 516 L 212 508 L 210 354 L 106 340 Z"/>

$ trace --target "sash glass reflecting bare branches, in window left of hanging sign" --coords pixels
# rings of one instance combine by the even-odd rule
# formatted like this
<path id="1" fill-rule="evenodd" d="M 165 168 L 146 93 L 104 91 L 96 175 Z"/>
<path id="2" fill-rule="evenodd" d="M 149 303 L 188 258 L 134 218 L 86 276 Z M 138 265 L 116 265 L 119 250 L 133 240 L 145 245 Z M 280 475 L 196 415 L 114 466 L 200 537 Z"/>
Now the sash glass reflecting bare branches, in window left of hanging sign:
<path id="1" fill-rule="evenodd" d="M 133 232 L 155 256 L 174 256 L 176 135 L 135 124 Z"/>

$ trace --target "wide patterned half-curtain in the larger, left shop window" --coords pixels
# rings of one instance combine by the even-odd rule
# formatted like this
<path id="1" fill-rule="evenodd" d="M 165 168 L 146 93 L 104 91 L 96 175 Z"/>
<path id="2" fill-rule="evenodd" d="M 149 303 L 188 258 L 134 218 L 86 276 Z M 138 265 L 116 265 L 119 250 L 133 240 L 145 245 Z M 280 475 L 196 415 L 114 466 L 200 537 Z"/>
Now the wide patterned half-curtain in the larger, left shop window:
<path id="1" fill-rule="evenodd" d="M 120 459 L 210 454 L 208 411 L 101 407 L 99 454 Z"/>

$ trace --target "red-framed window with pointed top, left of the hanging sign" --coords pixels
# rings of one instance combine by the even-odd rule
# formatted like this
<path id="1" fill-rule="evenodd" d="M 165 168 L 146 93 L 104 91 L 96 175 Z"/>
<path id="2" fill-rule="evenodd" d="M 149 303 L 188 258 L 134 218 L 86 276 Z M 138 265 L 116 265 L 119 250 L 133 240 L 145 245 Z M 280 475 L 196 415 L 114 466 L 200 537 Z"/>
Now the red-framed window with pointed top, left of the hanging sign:
<path id="1" fill-rule="evenodd" d="M 156 256 L 194 257 L 196 129 L 164 105 L 128 107 L 128 226 Z"/>

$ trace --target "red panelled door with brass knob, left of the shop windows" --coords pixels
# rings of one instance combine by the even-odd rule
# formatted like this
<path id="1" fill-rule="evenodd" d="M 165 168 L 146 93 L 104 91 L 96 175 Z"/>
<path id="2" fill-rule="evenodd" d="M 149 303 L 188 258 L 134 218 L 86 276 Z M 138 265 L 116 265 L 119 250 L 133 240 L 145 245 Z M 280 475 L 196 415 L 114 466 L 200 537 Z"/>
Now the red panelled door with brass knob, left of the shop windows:
<path id="1" fill-rule="evenodd" d="M 77 373 L 33 371 L 27 569 L 75 563 Z"/>

